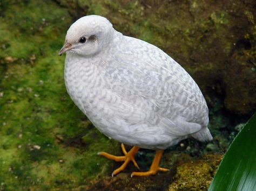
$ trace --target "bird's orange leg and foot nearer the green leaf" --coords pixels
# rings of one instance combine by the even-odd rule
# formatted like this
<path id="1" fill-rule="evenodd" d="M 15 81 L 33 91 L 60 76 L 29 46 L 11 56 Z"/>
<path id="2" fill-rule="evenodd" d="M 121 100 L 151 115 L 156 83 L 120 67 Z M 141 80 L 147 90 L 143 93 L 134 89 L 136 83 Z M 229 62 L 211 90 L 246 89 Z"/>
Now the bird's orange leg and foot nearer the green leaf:
<path id="1" fill-rule="evenodd" d="M 154 157 L 154 160 L 152 162 L 152 165 L 151 165 L 149 171 L 147 171 L 147 172 L 133 172 L 131 174 L 131 177 L 132 176 L 149 176 L 149 175 L 154 175 L 154 174 L 157 173 L 157 171 L 163 171 L 163 172 L 169 171 L 169 169 L 167 169 L 167 168 L 160 168 L 159 167 L 159 162 L 160 162 L 161 156 L 163 155 L 163 152 L 164 152 L 164 150 L 159 150 L 159 151 L 156 152 L 156 155 Z"/>

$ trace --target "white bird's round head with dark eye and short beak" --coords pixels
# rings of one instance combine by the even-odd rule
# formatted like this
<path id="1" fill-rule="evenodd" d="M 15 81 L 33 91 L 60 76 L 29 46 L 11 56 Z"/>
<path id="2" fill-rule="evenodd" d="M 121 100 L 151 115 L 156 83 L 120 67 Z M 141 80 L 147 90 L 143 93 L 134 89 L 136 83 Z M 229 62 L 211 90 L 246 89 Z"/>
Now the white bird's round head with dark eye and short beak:
<path id="1" fill-rule="evenodd" d="M 70 26 L 59 55 L 64 52 L 87 57 L 98 54 L 111 43 L 113 33 L 112 24 L 106 18 L 97 15 L 82 17 Z"/>

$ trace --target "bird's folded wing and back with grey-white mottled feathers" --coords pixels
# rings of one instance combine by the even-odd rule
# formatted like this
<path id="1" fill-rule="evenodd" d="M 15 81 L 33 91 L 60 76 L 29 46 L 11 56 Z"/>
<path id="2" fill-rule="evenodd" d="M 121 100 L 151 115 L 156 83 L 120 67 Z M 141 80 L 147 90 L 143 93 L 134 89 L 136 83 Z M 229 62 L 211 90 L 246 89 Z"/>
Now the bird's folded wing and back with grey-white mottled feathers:
<path id="1" fill-rule="evenodd" d="M 123 104 L 127 108 L 136 105 L 138 115 L 149 114 L 142 115 L 142 122 L 153 120 L 171 126 L 176 134 L 200 130 L 201 115 L 205 115 L 207 106 L 191 76 L 156 46 L 130 37 L 124 39 L 100 65 L 111 91 L 126 101 Z"/>

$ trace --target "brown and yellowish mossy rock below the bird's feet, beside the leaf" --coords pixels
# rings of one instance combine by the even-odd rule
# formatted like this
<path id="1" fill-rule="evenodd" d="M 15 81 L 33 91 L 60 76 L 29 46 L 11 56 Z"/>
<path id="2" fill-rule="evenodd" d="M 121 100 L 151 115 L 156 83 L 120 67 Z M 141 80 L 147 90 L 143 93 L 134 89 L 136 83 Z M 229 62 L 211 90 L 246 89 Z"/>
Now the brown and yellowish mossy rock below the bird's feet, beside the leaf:
<path id="1" fill-rule="evenodd" d="M 173 153 L 172 153 L 173 155 Z M 130 177 L 121 173 L 114 178 L 103 177 L 81 186 L 85 190 L 207 190 L 223 155 L 208 154 L 199 159 L 180 154 L 168 173 L 150 177 Z"/>

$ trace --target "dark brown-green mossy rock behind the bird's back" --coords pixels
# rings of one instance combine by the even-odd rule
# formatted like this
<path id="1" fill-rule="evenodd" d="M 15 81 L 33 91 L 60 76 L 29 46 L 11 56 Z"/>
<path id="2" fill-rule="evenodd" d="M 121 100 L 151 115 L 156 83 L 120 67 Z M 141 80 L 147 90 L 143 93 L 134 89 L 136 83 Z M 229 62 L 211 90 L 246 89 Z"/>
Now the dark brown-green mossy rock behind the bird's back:
<path id="1" fill-rule="evenodd" d="M 102 15 L 118 31 L 164 49 L 196 80 L 210 107 L 220 96 L 233 114 L 255 111 L 255 1 L 57 2 L 74 20 Z"/>

